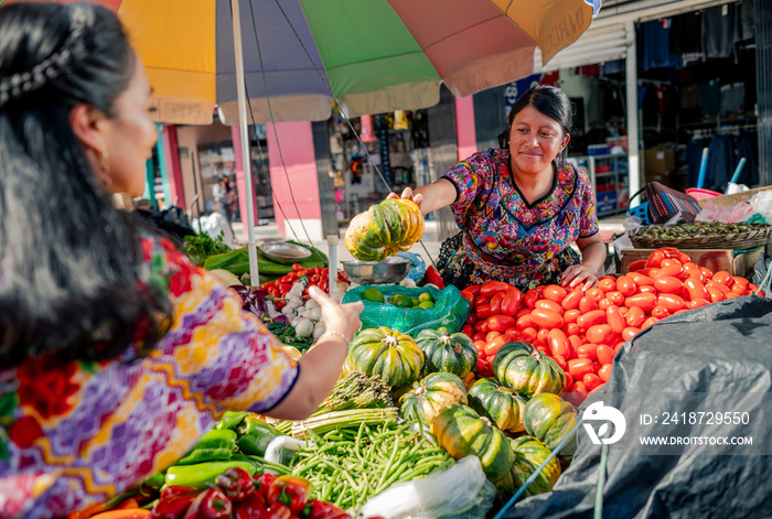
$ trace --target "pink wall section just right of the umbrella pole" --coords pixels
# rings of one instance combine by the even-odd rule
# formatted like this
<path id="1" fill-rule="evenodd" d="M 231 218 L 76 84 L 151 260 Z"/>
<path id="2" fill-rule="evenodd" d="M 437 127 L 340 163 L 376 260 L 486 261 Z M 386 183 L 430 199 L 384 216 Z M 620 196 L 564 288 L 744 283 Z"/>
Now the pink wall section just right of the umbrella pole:
<path id="1" fill-rule="evenodd" d="M 278 122 L 276 133 L 272 125 L 267 123 L 266 132 L 270 182 L 275 194 L 274 214 L 278 230 L 283 235 L 286 218 L 321 220 L 322 217 L 313 132 L 310 122 Z M 279 144 L 281 152 L 279 152 Z M 294 202 L 292 202 L 290 186 Z"/>

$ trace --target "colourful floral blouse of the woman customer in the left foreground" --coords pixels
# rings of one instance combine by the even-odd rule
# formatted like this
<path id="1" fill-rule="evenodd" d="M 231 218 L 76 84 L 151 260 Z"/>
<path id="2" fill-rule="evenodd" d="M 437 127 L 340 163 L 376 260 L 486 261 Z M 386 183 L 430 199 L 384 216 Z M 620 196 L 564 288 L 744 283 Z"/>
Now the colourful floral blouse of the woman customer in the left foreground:
<path id="1" fill-rule="evenodd" d="M 172 302 L 147 357 L 0 372 L 0 518 L 104 501 L 180 459 L 225 410 L 264 412 L 292 389 L 297 363 L 235 292 L 170 241 L 141 245 L 143 281 Z"/>

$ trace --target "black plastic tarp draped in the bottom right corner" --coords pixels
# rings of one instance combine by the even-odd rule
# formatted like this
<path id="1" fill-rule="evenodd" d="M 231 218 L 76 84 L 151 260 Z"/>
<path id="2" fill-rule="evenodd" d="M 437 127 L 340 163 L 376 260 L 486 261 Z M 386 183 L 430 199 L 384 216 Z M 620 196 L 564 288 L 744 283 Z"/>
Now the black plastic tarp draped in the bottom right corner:
<path id="1" fill-rule="evenodd" d="M 771 386 L 769 299 L 744 296 L 710 304 L 663 320 L 631 339 L 616 355 L 612 378 L 596 400 L 620 409 L 628 422 L 648 412 L 641 409 L 641 402 L 650 396 L 661 400 L 658 411 L 648 413 L 658 414 L 661 422 L 663 409 L 682 411 L 685 400 L 701 412 L 741 408 L 748 413 L 742 420 L 747 423 L 718 426 L 703 420 L 704 414 L 698 415 L 703 423 L 689 424 L 687 413 L 687 423 L 680 421 L 674 430 L 690 437 L 750 436 L 753 445 L 746 451 L 689 445 L 668 455 L 633 441 L 609 445 L 602 516 L 772 517 L 772 404 L 769 394 L 763 394 Z M 741 399 L 741 394 L 757 398 Z M 705 409 L 719 406 L 738 409 Z M 636 428 L 633 423 L 625 435 L 634 435 Z M 581 428 L 578 439 L 573 461 L 553 491 L 519 501 L 506 517 L 593 516 L 601 447 Z"/>

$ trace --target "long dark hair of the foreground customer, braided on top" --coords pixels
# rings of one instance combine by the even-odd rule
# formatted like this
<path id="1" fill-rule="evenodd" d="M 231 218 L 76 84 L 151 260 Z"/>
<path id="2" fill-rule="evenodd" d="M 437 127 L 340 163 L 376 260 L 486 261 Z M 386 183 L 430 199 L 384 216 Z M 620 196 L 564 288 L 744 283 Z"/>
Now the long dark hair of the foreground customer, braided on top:
<path id="1" fill-rule="evenodd" d="M 0 370 L 44 354 L 115 357 L 169 313 L 138 283 L 137 224 L 114 207 L 69 123 L 84 102 L 114 117 L 135 62 L 105 8 L 0 8 Z"/>

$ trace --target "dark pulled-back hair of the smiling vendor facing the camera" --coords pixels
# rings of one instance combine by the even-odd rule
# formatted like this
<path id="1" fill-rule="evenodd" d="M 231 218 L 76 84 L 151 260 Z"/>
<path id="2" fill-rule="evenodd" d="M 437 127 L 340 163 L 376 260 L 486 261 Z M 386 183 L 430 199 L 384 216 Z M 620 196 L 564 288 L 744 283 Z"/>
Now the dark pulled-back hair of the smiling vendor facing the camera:
<path id="1" fill-rule="evenodd" d="M 565 91 L 558 87 L 549 85 L 535 85 L 528 88 L 512 107 L 506 116 L 506 128 L 498 134 L 498 147 L 503 150 L 510 149 L 510 131 L 515 116 L 527 106 L 533 106 L 545 116 L 555 119 L 562 129 L 565 138 L 571 132 L 573 121 L 573 105 Z M 564 148 L 558 155 L 559 162 L 566 162 L 568 147 Z"/>

